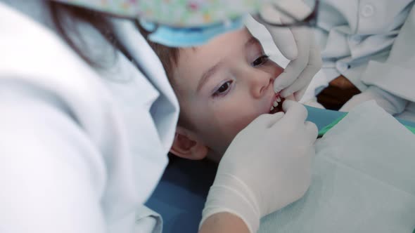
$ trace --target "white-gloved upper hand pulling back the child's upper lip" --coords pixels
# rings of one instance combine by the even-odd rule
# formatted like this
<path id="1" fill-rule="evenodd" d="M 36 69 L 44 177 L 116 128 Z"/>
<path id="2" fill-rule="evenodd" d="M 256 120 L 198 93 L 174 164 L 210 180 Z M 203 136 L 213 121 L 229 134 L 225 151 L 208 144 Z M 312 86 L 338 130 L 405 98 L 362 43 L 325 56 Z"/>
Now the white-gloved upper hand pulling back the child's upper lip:
<path id="1" fill-rule="evenodd" d="M 285 9 L 295 15 L 304 15 L 309 12 L 309 6 L 302 0 L 278 0 L 279 4 L 284 4 Z M 268 22 L 288 23 L 288 18 L 279 15 L 271 4 L 262 6 L 260 14 Z M 307 86 L 312 81 L 314 75 L 322 65 L 320 49 L 314 42 L 314 34 L 309 27 L 273 27 L 264 24 L 269 31 L 281 53 L 288 59 L 286 69 L 274 81 L 274 91 L 285 98 L 287 95 L 295 95 L 296 100 L 300 100 L 304 95 Z"/>

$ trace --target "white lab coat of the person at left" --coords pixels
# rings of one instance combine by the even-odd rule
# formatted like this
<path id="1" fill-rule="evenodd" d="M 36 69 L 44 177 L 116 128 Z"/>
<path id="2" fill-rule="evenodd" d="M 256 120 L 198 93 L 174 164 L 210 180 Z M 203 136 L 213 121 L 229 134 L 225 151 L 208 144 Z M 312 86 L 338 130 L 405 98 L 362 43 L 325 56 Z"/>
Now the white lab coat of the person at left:
<path id="1" fill-rule="evenodd" d="M 157 56 L 132 22 L 115 20 L 148 76 L 119 52 L 92 69 L 41 1 L 10 3 L 34 20 L 0 2 L 0 232 L 160 232 L 143 203 L 167 165 L 179 105 Z M 91 51 L 113 55 L 81 32 Z"/>

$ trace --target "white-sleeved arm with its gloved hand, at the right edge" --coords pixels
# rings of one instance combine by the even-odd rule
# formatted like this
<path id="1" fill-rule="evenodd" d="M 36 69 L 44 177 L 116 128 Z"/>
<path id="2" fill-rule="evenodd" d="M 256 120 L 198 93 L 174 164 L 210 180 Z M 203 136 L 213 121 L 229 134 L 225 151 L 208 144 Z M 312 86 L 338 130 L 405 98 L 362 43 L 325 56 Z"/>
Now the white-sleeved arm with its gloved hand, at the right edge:
<path id="1" fill-rule="evenodd" d="M 370 61 L 362 74 L 362 81 L 369 85 L 365 91 L 347 101 L 340 111 L 350 109 L 368 100 L 376 103 L 390 114 L 400 114 L 408 102 L 415 101 L 414 64 L 415 46 L 412 42 L 415 34 L 415 7 L 401 27 L 388 60 Z"/>

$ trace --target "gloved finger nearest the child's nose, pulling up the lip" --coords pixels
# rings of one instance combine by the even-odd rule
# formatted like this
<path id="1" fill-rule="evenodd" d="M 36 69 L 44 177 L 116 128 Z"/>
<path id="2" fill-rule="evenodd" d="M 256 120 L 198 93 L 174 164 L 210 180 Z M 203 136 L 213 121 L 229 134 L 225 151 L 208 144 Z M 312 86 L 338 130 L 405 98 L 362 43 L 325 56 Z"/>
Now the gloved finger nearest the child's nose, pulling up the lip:
<path id="1" fill-rule="evenodd" d="M 274 91 L 276 93 L 279 93 L 281 90 L 293 84 L 294 81 L 298 80 L 298 77 L 309 63 L 309 29 L 298 27 L 291 29 L 291 32 L 293 33 L 298 51 L 300 51 L 300 53 L 295 60 L 291 60 L 288 63 L 286 69 L 284 69 L 284 72 L 275 79 Z M 282 96 L 285 97 L 284 95 Z"/>

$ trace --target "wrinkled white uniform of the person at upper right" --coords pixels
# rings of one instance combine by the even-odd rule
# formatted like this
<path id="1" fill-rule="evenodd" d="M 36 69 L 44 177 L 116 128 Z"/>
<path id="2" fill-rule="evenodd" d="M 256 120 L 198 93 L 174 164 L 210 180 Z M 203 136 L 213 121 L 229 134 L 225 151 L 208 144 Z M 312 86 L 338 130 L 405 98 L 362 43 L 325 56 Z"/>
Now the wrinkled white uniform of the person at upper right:
<path id="1" fill-rule="evenodd" d="M 376 86 L 380 98 L 394 106 L 390 113 L 415 120 L 414 1 L 321 0 L 320 5 L 316 34 L 326 84 L 343 74 L 360 91 Z"/>

